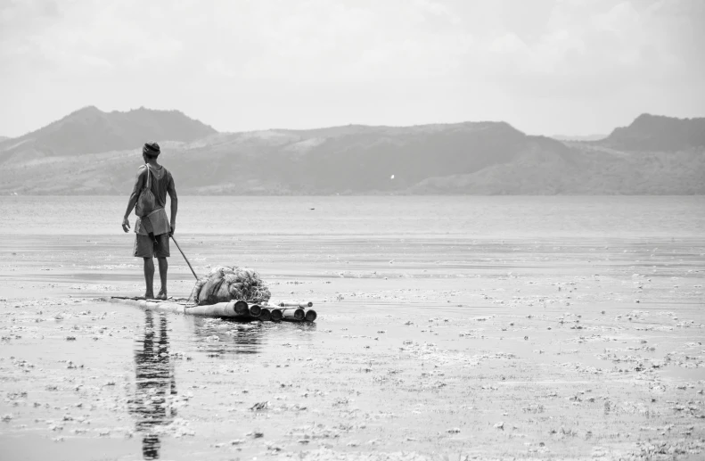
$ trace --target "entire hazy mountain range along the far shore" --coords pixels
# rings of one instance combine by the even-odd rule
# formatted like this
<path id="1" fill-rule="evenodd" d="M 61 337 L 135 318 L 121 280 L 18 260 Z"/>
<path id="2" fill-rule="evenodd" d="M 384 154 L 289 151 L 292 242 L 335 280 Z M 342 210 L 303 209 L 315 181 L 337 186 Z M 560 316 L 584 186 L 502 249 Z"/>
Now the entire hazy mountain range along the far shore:
<path id="1" fill-rule="evenodd" d="M 598 139 L 505 122 L 218 133 L 179 111 L 75 111 L 0 140 L 0 193 L 127 194 L 141 146 L 185 194 L 701 194 L 705 119 L 640 115 Z"/>

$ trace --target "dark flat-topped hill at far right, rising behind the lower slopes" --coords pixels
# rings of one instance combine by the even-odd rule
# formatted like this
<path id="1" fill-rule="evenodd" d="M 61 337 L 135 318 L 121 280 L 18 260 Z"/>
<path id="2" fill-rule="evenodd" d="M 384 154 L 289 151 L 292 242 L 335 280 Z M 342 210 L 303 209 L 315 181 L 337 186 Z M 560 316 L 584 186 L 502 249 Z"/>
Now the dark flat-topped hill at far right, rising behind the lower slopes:
<path id="1" fill-rule="evenodd" d="M 642 114 L 631 125 L 615 128 L 600 145 L 626 151 L 673 152 L 705 145 L 705 118 L 676 119 Z"/>

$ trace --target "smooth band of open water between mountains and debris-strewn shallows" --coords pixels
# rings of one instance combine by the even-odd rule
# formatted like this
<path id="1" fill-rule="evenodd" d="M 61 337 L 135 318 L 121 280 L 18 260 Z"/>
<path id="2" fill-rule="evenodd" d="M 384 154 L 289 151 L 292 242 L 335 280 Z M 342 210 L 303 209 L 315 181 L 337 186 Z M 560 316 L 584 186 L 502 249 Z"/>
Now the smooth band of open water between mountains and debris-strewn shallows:
<path id="1" fill-rule="evenodd" d="M 124 197 L 0 197 L 2 235 L 120 235 Z M 182 197 L 183 235 L 693 236 L 703 196 Z M 168 206 L 167 206 L 168 208 Z M 132 221 L 134 224 L 134 216 Z"/>

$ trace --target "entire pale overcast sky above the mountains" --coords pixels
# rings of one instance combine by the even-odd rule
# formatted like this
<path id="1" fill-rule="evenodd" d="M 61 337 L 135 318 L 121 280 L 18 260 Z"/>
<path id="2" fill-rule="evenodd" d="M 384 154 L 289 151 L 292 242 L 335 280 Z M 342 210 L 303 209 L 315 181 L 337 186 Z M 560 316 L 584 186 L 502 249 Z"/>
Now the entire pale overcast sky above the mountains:
<path id="1" fill-rule="evenodd" d="M 0 0 L 0 135 L 86 105 L 221 131 L 705 116 L 701 0 Z"/>

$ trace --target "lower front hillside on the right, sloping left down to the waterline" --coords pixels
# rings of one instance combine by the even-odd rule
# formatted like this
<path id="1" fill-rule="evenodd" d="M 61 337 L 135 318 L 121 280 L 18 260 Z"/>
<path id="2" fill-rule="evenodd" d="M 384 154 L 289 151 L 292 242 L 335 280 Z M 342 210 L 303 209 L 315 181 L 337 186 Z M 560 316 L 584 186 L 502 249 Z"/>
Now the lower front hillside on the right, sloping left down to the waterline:
<path id="1" fill-rule="evenodd" d="M 430 177 L 410 193 L 425 194 L 665 194 L 705 193 L 705 149 L 631 155 L 582 143 L 570 157 L 539 149 L 478 172 Z"/>

